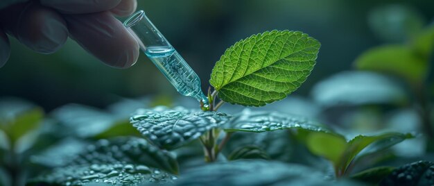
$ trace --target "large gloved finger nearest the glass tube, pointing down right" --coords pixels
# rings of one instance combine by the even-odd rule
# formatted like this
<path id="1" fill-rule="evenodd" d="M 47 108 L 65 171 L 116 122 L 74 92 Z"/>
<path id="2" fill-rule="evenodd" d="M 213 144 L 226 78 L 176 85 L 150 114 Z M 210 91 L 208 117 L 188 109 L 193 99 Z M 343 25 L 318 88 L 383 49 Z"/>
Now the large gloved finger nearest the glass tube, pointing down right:
<path id="1" fill-rule="evenodd" d="M 107 65 L 126 68 L 139 57 L 139 44 L 110 12 L 65 15 L 69 33 L 84 49 Z"/>

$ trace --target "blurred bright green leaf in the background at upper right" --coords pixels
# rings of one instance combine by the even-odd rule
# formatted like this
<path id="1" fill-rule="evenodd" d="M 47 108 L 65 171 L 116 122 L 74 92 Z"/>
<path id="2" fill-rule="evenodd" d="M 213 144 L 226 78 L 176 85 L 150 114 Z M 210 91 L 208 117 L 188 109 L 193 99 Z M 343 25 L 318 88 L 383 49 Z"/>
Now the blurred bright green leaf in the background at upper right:
<path id="1" fill-rule="evenodd" d="M 428 60 L 402 45 L 385 45 L 365 51 L 356 59 L 356 67 L 393 74 L 411 85 L 422 83 L 428 74 Z"/>

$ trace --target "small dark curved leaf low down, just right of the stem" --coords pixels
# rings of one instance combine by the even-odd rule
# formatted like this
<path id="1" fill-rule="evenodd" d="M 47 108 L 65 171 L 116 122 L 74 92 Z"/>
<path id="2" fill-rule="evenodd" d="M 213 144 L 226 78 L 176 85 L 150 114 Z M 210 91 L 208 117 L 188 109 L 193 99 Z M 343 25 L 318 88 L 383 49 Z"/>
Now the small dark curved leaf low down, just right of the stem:
<path id="1" fill-rule="evenodd" d="M 241 146 L 227 157 L 228 160 L 239 160 L 239 159 L 264 159 L 270 160 L 270 155 L 266 153 L 263 149 L 256 145 Z"/>

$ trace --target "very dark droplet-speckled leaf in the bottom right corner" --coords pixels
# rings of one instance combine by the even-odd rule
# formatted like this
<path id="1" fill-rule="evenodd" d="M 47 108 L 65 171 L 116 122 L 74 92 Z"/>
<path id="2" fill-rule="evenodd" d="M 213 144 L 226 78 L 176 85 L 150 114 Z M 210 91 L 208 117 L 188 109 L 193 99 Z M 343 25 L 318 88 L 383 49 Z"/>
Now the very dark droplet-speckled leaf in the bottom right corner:
<path id="1" fill-rule="evenodd" d="M 434 185 L 434 163 L 419 161 L 405 164 L 392 171 L 380 185 Z"/>

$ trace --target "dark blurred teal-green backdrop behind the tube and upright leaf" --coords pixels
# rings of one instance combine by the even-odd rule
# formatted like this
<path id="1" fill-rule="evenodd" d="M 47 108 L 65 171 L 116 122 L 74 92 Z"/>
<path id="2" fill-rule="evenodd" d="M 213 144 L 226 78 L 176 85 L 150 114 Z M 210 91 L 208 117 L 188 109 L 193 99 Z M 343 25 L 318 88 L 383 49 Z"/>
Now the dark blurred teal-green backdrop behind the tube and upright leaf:
<path id="1" fill-rule="evenodd" d="M 402 42 L 399 33 L 383 32 L 382 7 L 397 5 L 397 15 L 417 17 L 414 28 L 430 24 L 434 1 L 139 1 L 173 46 L 209 86 L 209 74 L 225 49 L 252 34 L 273 29 L 302 31 L 322 43 L 318 63 L 296 94 L 307 95 L 312 85 L 333 73 L 353 67 L 363 51 L 379 44 Z M 399 9 L 401 8 L 401 9 Z M 392 8 L 392 11 L 395 11 Z M 402 16 L 401 16 L 402 17 Z M 408 16 L 406 16 L 408 17 Z M 411 17 L 411 16 L 410 16 Z M 122 18 L 120 18 L 122 19 Z M 380 21 L 379 21 L 380 20 Z M 400 22 L 399 22 L 400 23 Z M 393 33 L 393 32 L 392 32 Z M 16 96 L 46 111 L 66 103 L 103 107 L 122 97 L 148 94 L 177 95 L 157 68 L 141 55 L 130 69 L 113 69 L 68 40 L 57 53 L 42 55 L 11 38 L 12 53 L 0 68 L 0 97 Z"/>

